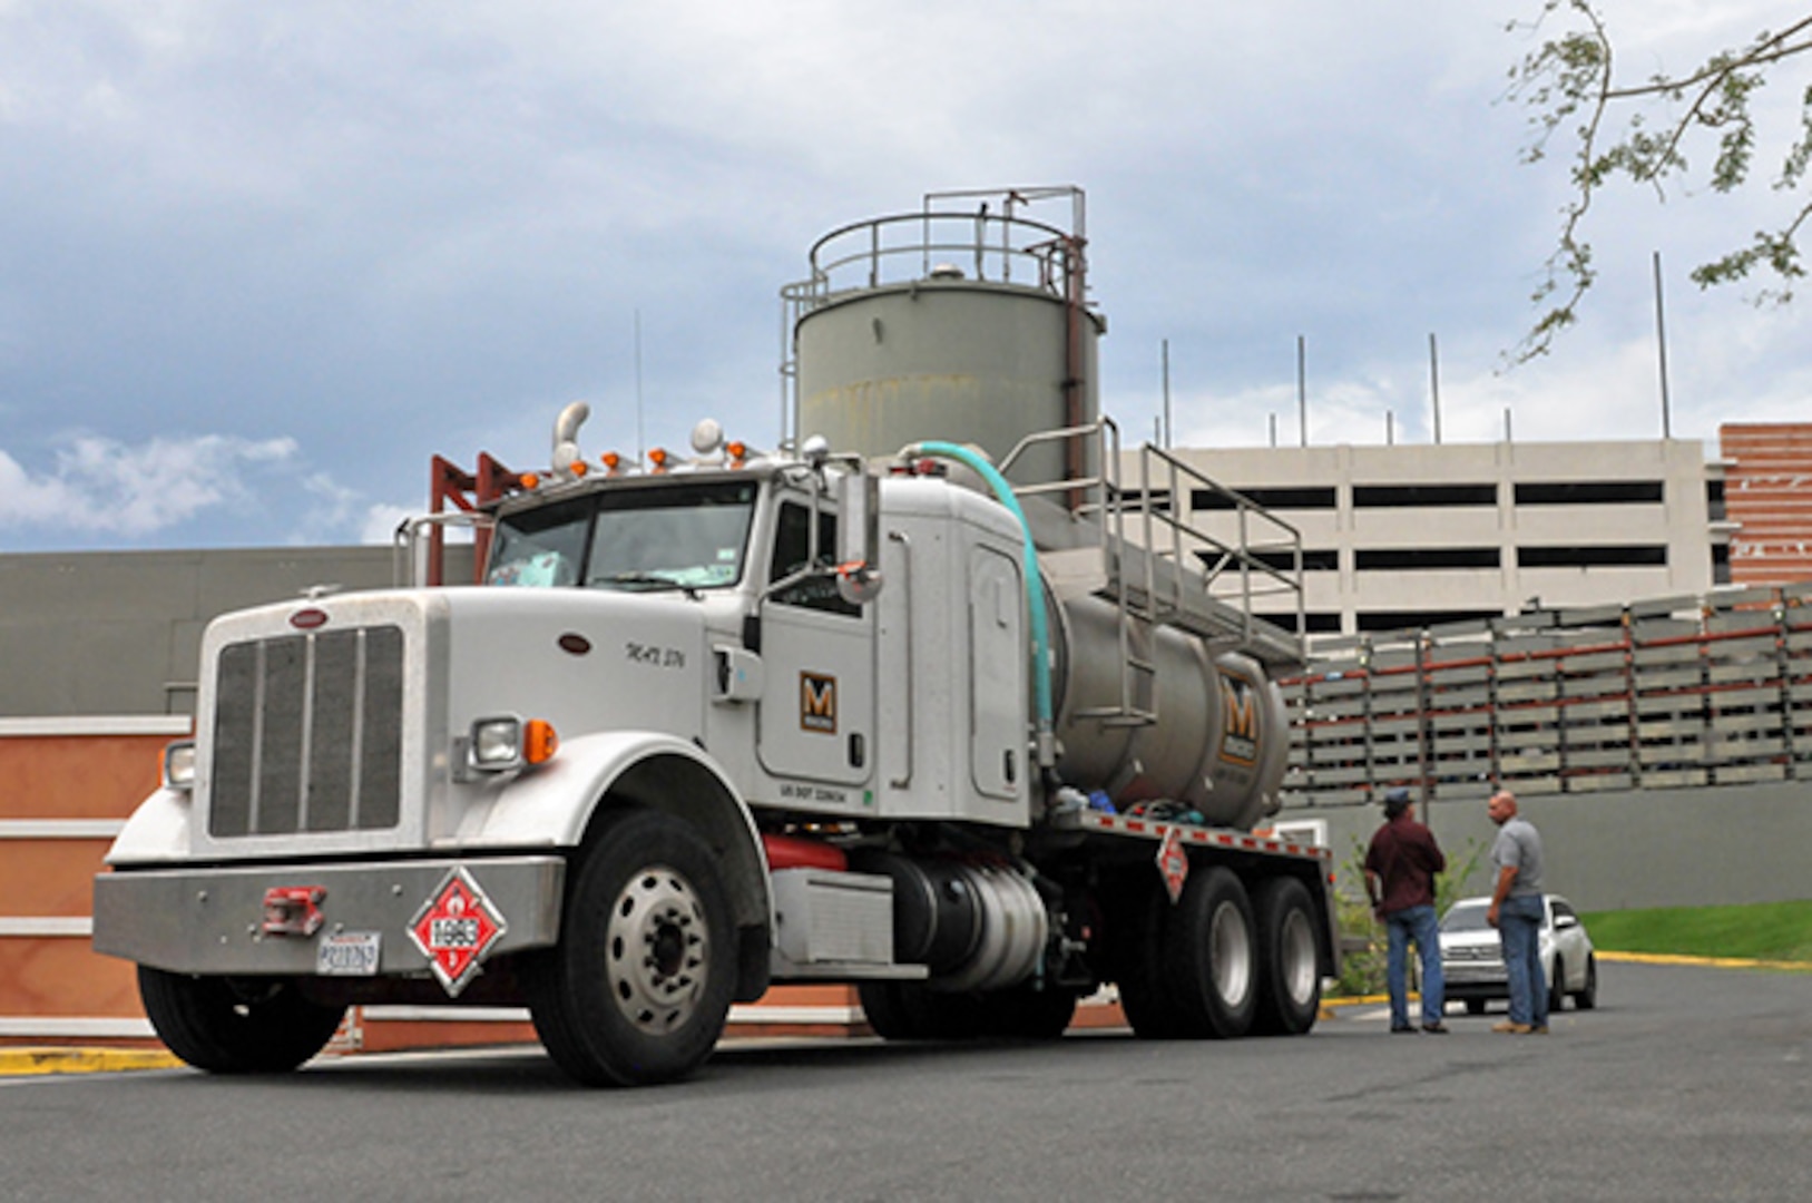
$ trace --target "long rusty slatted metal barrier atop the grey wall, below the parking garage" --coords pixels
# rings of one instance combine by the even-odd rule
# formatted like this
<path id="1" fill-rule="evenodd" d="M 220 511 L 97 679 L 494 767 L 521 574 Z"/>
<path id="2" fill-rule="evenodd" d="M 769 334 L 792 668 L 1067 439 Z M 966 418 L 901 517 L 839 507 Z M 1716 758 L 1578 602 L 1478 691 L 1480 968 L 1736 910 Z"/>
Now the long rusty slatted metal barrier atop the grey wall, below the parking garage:
<path id="1" fill-rule="evenodd" d="M 1317 643 L 1287 804 L 1812 779 L 1812 583 Z"/>

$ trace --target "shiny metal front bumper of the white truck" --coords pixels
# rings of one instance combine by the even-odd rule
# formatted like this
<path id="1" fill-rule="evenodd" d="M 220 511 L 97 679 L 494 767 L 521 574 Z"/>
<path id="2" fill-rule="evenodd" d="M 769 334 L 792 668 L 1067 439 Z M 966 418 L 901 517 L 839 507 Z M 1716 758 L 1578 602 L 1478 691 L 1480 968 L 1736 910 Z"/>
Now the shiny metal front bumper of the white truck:
<path id="1" fill-rule="evenodd" d="M 411 929 L 449 897 L 460 909 L 482 897 L 498 931 L 478 958 L 547 948 L 560 937 L 562 857 L 475 857 L 361 864 L 112 870 L 94 879 L 94 951 L 172 973 L 313 975 L 330 938 L 377 933 L 375 973 L 424 977 L 433 969 Z M 306 891 L 319 900 L 310 931 L 272 931 L 268 900 Z M 281 924 L 279 924 L 281 926 Z"/>

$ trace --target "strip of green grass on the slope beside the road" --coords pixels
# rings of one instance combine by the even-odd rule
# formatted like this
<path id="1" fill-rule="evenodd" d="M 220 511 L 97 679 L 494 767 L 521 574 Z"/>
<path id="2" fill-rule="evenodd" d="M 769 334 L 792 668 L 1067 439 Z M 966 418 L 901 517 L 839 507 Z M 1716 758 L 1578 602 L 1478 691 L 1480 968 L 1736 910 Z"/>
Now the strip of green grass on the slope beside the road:
<path id="1" fill-rule="evenodd" d="M 1593 944 L 1605 951 L 1812 964 L 1812 900 L 1596 911 L 1584 919 Z"/>

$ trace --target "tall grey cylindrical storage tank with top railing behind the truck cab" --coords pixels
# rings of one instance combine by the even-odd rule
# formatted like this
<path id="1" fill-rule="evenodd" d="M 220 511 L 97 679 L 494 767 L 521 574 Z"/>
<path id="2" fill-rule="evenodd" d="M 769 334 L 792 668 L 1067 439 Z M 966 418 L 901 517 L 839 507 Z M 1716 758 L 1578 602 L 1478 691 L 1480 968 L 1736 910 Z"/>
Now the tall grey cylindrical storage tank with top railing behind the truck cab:
<path id="1" fill-rule="evenodd" d="M 877 458 L 942 438 L 1000 462 L 1033 431 L 1096 419 L 1105 322 L 1085 304 L 1084 239 L 1018 216 L 1024 192 L 1000 196 L 998 212 L 986 201 L 933 210 L 940 197 L 926 197 L 924 212 L 861 221 L 812 246 L 810 279 L 783 294 L 799 438 Z M 1080 225 L 1080 192 L 1075 205 Z M 1007 476 L 1094 471 L 1084 442 L 1067 440 L 1029 448 Z"/>

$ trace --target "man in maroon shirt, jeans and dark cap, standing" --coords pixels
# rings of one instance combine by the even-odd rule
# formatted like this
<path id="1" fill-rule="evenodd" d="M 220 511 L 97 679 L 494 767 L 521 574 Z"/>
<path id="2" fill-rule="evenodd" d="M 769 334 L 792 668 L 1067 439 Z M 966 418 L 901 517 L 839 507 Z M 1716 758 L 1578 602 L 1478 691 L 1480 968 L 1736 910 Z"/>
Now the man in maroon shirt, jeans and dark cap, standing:
<path id="1" fill-rule="evenodd" d="M 1390 1031 L 1413 1033 L 1408 1002 L 1410 940 L 1422 958 L 1422 1031 L 1444 1035 L 1446 982 L 1441 977 L 1441 924 L 1435 917 L 1435 873 L 1448 868 L 1435 833 L 1415 821 L 1410 792 L 1384 794 L 1384 826 L 1364 853 L 1364 888 L 1390 946 Z"/>

